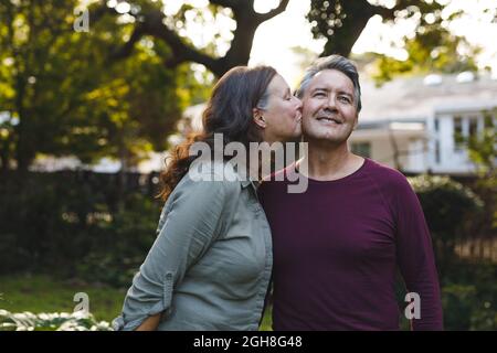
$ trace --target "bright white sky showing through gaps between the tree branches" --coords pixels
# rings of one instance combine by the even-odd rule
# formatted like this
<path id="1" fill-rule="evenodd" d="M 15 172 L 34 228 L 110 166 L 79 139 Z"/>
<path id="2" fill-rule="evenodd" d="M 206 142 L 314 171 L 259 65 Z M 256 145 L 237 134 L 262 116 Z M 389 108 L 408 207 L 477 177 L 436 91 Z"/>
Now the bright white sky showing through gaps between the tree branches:
<path id="1" fill-rule="evenodd" d="M 92 2 L 95 0 L 82 0 Z M 209 0 L 152 0 L 162 2 L 166 14 L 173 14 L 184 2 L 197 9 L 204 8 Z M 392 7 L 395 0 L 368 0 Z M 491 19 L 497 12 L 497 0 L 437 0 L 446 3 L 445 13 L 450 14 L 456 10 L 463 10 L 465 14 L 451 22 L 450 29 L 457 35 L 463 35 L 473 44 L 483 47 L 483 53 L 477 58 L 479 66 L 490 66 L 494 76 L 497 76 L 497 22 Z M 108 4 L 117 6 L 123 12 L 129 10 L 124 0 L 108 0 Z M 257 12 L 267 12 L 277 7 L 279 0 L 255 0 L 254 8 Z M 119 9 L 118 9 L 119 8 Z M 293 47 L 300 46 L 317 56 L 325 41 L 315 40 L 310 33 L 310 24 L 305 15 L 309 11 L 310 0 L 290 0 L 286 11 L 282 14 L 262 23 L 254 36 L 250 65 L 267 64 L 274 66 L 286 78 L 290 86 L 295 86 L 302 77 L 302 56 L 295 54 Z M 494 8 L 494 13 L 483 14 L 482 9 Z M 168 23 L 176 26 L 180 35 L 188 36 L 197 47 L 204 47 L 214 43 L 219 55 L 229 50 L 229 43 L 233 38 L 232 31 L 236 22 L 231 19 L 230 10 L 218 18 L 212 18 L 209 11 L 203 12 L 203 22 L 195 19 L 194 12 L 187 11 L 188 26 L 181 29 L 181 23 Z M 215 25 L 205 25 L 215 23 Z M 377 52 L 388 54 L 395 58 L 406 58 L 406 52 L 401 47 L 401 39 L 413 33 L 414 23 L 408 21 L 398 22 L 395 25 L 384 24 L 379 15 L 370 19 L 366 29 L 352 47 L 352 53 Z M 220 36 L 215 38 L 219 32 Z M 392 45 L 393 43 L 393 45 Z M 396 44 L 395 44 L 396 43 Z M 200 73 L 205 71 L 201 65 L 193 64 L 193 69 Z"/>

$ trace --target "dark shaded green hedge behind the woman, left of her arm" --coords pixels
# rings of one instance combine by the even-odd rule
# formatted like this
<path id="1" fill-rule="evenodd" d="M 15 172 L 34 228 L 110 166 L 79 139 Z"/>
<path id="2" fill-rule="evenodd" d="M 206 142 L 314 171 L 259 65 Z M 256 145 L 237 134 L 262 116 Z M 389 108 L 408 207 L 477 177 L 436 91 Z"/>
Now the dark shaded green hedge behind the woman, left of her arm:
<path id="1" fill-rule="evenodd" d="M 156 237 L 161 203 L 137 191 L 120 200 L 112 178 L 82 176 L 35 174 L 22 186 L 0 184 L 0 274 L 129 285 Z"/>

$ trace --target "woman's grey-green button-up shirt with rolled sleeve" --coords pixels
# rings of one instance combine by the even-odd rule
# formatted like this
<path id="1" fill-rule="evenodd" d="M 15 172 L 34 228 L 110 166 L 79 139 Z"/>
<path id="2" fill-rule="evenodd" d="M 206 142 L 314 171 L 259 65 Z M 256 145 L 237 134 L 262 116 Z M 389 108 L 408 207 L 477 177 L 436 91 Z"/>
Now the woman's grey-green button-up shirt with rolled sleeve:
<path id="1" fill-rule="evenodd" d="M 269 225 L 255 185 L 223 165 L 224 175 L 207 172 L 213 181 L 187 174 L 170 194 L 115 330 L 159 312 L 158 330 L 258 329 L 273 266 Z"/>

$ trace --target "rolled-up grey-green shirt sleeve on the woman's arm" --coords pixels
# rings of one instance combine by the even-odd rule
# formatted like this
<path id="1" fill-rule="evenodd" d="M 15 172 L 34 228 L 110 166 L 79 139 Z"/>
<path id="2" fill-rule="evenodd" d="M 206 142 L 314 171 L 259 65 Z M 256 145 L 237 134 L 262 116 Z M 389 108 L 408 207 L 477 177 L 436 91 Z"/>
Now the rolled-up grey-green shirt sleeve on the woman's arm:
<path id="1" fill-rule="evenodd" d="M 115 330 L 133 331 L 150 315 L 168 314 L 175 287 L 226 226 L 240 184 L 184 178 L 162 210 L 158 236 L 113 322 Z"/>

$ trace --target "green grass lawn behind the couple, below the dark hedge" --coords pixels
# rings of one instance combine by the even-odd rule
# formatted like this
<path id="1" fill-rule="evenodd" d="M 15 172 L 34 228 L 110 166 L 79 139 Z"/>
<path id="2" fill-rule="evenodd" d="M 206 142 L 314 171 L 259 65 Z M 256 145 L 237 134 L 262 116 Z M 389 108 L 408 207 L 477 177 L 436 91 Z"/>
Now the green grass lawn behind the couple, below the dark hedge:
<path id="1" fill-rule="evenodd" d="M 62 281 L 49 276 L 0 277 L 0 309 L 10 312 L 72 312 L 77 302 L 74 295 L 86 292 L 89 311 L 97 321 L 110 322 L 123 307 L 125 289 L 92 286 L 77 281 Z M 271 308 L 265 312 L 261 330 L 271 330 Z"/>

